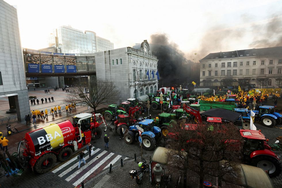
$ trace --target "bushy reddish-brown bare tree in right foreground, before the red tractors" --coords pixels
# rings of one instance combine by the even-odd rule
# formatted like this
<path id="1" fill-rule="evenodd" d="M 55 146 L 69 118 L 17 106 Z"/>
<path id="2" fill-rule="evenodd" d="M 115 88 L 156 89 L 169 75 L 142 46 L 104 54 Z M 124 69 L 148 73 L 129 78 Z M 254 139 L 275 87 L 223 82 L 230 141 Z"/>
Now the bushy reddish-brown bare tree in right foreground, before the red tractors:
<path id="1" fill-rule="evenodd" d="M 169 162 L 199 176 L 199 187 L 204 178 L 217 177 L 219 185 L 224 175 L 238 176 L 242 153 L 242 137 L 233 124 L 174 125 L 171 136 Z M 185 181 L 184 181 L 185 182 Z"/>

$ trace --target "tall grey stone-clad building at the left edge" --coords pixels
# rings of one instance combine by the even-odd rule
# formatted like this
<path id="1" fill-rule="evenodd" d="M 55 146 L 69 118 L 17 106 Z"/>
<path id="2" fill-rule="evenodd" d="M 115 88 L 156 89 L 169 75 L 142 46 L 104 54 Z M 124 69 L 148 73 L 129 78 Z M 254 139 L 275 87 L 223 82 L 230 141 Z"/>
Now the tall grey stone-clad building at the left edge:
<path id="1" fill-rule="evenodd" d="M 18 121 L 22 121 L 30 106 L 17 10 L 3 0 L 0 9 L 0 97 L 8 97 L 10 111 L 16 111 Z"/>

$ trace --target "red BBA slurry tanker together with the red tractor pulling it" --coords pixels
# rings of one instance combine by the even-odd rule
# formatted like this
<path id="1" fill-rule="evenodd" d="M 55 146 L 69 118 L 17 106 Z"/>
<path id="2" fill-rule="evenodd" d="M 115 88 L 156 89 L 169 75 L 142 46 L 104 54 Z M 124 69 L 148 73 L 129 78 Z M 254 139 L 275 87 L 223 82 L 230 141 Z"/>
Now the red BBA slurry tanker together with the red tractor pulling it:
<path id="1" fill-rule="evenodd" d="M 96 122 L 96 117 L 102 122 Z M 66 120 L 28 132 L 18 145 L 18 160 L 22 166 L 30 165 L 35 172 L 45 173 L 54 167 L 57 159 L 66 161 L 91 139 L 100 138 L 101 124 L 106 131 L 101 114 L 81 113 L 73 117 L 73 124 Z"/>

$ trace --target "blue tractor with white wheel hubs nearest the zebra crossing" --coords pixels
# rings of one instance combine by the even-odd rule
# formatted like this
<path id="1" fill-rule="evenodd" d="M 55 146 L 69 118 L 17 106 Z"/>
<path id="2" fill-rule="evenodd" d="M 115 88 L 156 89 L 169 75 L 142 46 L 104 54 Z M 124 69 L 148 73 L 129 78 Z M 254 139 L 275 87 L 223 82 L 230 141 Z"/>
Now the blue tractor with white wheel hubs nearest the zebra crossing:
<path id="1" fill-rule="evenodd" d="M 154 126 L 153 119 L 144 119 L 125 131 L 124 140 L 127 144 L 132 144 L 138 140 L 141 131 L 142 147 L 146 150 L 153 150 L 157 142 L 161 141 L 161 129 Z"/>

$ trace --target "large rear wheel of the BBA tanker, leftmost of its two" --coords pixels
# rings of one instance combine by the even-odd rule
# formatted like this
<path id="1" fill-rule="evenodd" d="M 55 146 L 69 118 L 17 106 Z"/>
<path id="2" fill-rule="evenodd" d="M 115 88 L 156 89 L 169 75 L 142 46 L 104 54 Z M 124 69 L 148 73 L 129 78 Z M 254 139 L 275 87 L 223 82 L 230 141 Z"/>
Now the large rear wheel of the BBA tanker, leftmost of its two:
<path id="1" fill-rule="evenodd" d="M 56 161 L 57 157 L 54 153 L 49 152 L 41 155 L 34 165 L 34 170 L 39 174 L 48 172 L 55 166 Z"/>

